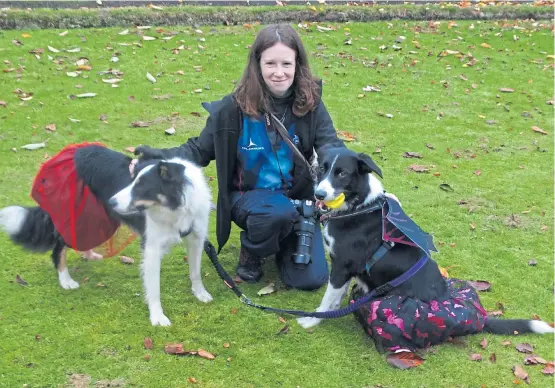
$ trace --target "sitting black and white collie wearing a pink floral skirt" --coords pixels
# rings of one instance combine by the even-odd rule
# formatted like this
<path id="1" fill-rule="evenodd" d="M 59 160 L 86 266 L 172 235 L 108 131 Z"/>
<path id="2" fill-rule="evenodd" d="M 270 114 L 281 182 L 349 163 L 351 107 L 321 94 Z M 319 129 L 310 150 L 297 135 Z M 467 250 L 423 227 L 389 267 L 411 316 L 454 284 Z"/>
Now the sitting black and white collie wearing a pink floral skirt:
<path id="1" fill-rule="evenodd" d="M 318 162 L 316 198 L 332 201 L 345 194 L 345 202 L 328 214 L 323 232 L 332 267 L 327 290 L 316 311 L 330 311 L 339 308 L 352 279 L 355 279 L 358 295 L 364 295 L 409 270 L 422 258 L 422 251 L 414 245 L 392 244 L 387 253 L 367 270 L 368 260 L 383 243 L 382 209 L 364 211 L 379 201 L 387 203 L 383 186 L 374 175 L 381 177 L 381 171 L 368 155 L 345 148 L 328 149 L 320 155 Z M 538 320 L 486 317 L 477 294 L 472 287 L 466 286 L 466 282 L 455 290 L 461 292 L 463 298 L 457 299 L 458 294 L 456 302 L 451 304 L 449 299 L 453 295 L 453 284 L 450 279 L 443 278 L 438 265 L 429 259 L 409 280 L 380 296 L 381 301 L 370 305 L 366 313 L 357 311 L 356 314 L 367 332 L 375 340 L 380 337 L 379 340 L 387 343 L 385 348 L 389 350 L 413 350 L 422 344 L 429 346 L 442 342 L 449 336 L 482 330 L 495 334 L 553 332 L 550 325 Z M 469 299 L 464 301 L 466 297 Z M 414 304 L 412 309 L 406 310 L 407 301 Z M 380 302 L 383 302 L 381 307 Z M 466 302 L 470 303 L 470 307 L 464 310 Z M 383 308 L 385 303 L 388 308 Z M 401 305 L 403 303 L 405 305 Z M 424 309 L 424 305 L 429 306 L 426 307 L 429 311 Z M 447 319 L 439 316 L 442 309 L 446 311 Z M 402 317 L 403 311 L 410 312 L 408 319 Z M 431 317 L 430 322 L 419 321 L 423 312 Z M 473 321 L 473 314 L 477 320 Z M 459 316 L 462 318 L 459 319 Z M 310 317 L 298 319 L 304 328 L 313 327 L 320 321 Z M 390 324 L 393 328 L 388 332 L 382 324 Z M 431 340 L 434 335 L 437 336 L 435 343 Z M 396 338 L 399 343 L 392 344 L 391 341 L 395 342 Z M 420 339 L 425 341 L 419 342 Z"/>

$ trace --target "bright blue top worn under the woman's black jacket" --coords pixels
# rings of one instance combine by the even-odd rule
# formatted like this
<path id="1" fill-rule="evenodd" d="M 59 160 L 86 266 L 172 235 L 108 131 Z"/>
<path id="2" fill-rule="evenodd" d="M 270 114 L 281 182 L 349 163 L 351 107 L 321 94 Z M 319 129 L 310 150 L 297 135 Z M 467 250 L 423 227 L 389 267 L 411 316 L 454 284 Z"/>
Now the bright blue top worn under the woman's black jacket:
<path id="1" fill-rule="evenodd" d="M 287 132 L 293 143 L 298 144 L 294 124 Z M 266 131 L 262 118 L 244 117 L 237 156 L 239 163 L 234 184 L 238 190 L 286 190 L 291 187 L 293 151 L 279 134 Z"/>

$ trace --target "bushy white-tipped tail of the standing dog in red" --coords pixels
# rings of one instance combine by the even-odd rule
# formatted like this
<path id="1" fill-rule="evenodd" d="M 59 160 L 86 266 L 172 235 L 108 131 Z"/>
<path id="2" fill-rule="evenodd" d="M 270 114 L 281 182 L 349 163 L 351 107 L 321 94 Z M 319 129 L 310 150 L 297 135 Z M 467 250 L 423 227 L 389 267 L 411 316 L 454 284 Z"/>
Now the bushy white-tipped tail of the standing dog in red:
<path id="1" fill-rule="evenodd" d="M 15 244 L 34 252 L 53 249 L 59 238 L 52 219 L 40 207 L 3 208 L 0 210 L 0 228 Z"/>

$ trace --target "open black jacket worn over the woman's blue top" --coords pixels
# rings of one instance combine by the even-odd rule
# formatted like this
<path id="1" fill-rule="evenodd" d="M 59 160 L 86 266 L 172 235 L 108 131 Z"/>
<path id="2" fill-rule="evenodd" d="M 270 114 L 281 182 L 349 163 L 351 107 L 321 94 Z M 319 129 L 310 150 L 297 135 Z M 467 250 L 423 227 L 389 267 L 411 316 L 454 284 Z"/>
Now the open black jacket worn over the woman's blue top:
<path id="1" fill-rule="evenodd" d="M 206 167 L 216 160 L 218 178 L 218 202 L 216 212 L 216 238 L 220 251 L 231 231 L 230 193 L 235 191 L 233 176 L 237 170 L 237 143 L 241 133 L 243 113 L 232 94 L 221 100 L 203 103 L 210 116 L 198 137 L 190 138 L 179 147 L 160 149 L 164 158 L 181 157 Z M 300 150 L 307 160 L 313 149 L 344 146 L 337 138 L 335 128 L 324 103 L 318 100 L 317 107 L 303 117 L 294 117 L 295 133 L 299 137 Z M 293 187 L 288 196 L 294 199 L 312 198 L 314 183 L 305 163 L 294 161 Z"/>

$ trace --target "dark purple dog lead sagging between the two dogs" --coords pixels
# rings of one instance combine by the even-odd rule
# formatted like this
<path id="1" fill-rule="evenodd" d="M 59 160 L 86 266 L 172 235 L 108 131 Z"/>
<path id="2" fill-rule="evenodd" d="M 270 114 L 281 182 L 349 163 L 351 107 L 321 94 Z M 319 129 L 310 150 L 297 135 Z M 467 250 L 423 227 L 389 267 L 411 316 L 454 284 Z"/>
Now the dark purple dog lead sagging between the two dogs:
<path id="1" fill-rule="evenodd" d="M 429 259 L 429 257 L 426 255 L 422 256 L 411 268 L 409 268 L 408 271 L 402 273 L 400 276 L 396 277 L 395 279 L 373 289 L 371 292 L 367 293 L 361 298 L 355 301 L 351 301 L 351 303 L 348 306 L 342 309 L 333 310 L 333 311 L 308 312 L 308 311 L 302 311 L 302 310 L 277 309 L 274 307 L 262 306 L 257 303 L 254 303 L 245 294 L 243 294 L 243 292 L 239 289 L 239 287 L 237 287 L 233 279 L 222 267 L 222 265 L 218 261 L 218 254 L 216 253 L 216 248 L 214 248 L 212 243 L 208 240 L 205 240 L 204 242 L 204 251 L 210 258 L 210 261 L 214 265 L 214 268 L 216 268 L 216 272 L 218 272 L 218 276 L 224 281 L 225 285 L 228 286 L 231 289 L 231 291 L 233 291 L 235 295 L 239 297 L 239 300 L 242 303 L 246 304 L 247 306 L 256 307 L 257 309 L 260 309 L 263 311 L 271 311 L 275 313 L 290 314 L 290 315 L 296 315 L 300 317 L 313 317 L 313 318 L 323 318 L 323 319 L 341 318 L 355 312 L 363 305 L 370 302 L 372 299 L 375 299 L 379 296 L 386 294 L 393 288 L 398 287 L 399 285 L 409 280 L 420 269 L 422 269 L 426 265 Z"/>

